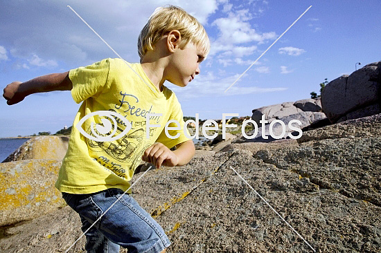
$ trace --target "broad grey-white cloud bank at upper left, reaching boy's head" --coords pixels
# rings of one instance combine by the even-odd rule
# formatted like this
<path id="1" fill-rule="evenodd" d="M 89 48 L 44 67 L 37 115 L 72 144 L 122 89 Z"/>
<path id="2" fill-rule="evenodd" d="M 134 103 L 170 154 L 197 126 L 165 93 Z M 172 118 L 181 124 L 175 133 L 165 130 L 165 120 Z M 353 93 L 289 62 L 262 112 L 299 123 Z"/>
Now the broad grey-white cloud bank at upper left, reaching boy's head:
<path id="1" fill-rule="evenodd" d="M 23 20 L 17 19 L 15 15 L 3 15 L 4 17 L 0 18 L 3 34 L 6 35 L 2 39 L 13 49 L 9 50 L 11 55 L 27 60 L 34 53 L 40 59 L 55 59 L 56 63 L 62 62 L 70 68 L 91 64 L 107 57 L 116 57 L 94 32 L 67 8 L 67 4 L 71 5 L 123 58 L 129 62 L 138 62 L 136 41 L 155 8 L 167 4 L 179 6 L 202 24 L 208 24 L 210 15 L 218 10 L 220 3 L 217 0 L 115 0 L 109 4 L 108 1 L 100 0 L 67 0 L 62 4 L 59 1 L 42 0 L 33 3 L 26 1 L 20 5 L 17 1 L 8 1 L 1 6 L 2 13 L 26 14 L 23 15 Z M 49 12 L 39 11 L 44 8 L 48 8 Z M 28 24 L 27 28 L 25 24 Z M 3 54 L 1 57 L 5 58 Z M 34 58 L 30 61 L 37 65 L 55 65 L 54 62 L 41 62 Z"/>

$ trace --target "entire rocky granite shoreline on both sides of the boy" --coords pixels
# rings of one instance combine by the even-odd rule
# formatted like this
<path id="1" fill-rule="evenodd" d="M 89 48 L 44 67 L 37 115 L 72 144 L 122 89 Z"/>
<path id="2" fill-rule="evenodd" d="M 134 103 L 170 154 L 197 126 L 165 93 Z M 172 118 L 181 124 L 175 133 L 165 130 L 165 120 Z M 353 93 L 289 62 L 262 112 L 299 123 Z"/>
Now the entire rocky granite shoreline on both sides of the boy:
<path id="1" fill-rule="evenodd" d="M 371 73 L 377 80 L 377 66 L 365 66 L 355 76 Z M 369 82 L 376 84 L 366 87 L 380 87 L 381 82 Z M 188 165 L 148 171 L 132 196 L 168 234 L 167 252 L 313 252 L 255 191 L 316 252 L 381 252 L 381 113 L 366 115 L 364 101 L 328 123 L 318 116 L 323 127 L 306 111 L 285 115 L 294 109 L 281 104 L 282 112 L 272 119 L 304 118 L 301 138 L 216 138 Z M 348 120 L 353 110 L 357 117 Z M 265 108 L 260 113 L 271 114 Z M 0 163 L 1 252 L 64 252 L 82 234 L 79 216 L 53 187 L 65 143 L 53 136 L 34 138 Z M 132 181 L 148 168 L 142 164 Z M 85 252 L 84 245 L 81 238 L 70 252 Z"/>

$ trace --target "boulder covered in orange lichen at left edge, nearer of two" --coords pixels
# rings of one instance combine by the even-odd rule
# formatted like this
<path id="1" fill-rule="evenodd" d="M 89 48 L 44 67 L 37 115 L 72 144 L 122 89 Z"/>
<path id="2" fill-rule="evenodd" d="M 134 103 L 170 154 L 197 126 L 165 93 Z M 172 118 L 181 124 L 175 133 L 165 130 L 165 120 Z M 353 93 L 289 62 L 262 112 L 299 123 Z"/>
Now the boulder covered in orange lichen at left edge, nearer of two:
<path id="1" fill-rule="evenodd" d="M 0 163 L 0 225 L 36 218 L 64 205 L 54 184 L 60 160 Z"/>

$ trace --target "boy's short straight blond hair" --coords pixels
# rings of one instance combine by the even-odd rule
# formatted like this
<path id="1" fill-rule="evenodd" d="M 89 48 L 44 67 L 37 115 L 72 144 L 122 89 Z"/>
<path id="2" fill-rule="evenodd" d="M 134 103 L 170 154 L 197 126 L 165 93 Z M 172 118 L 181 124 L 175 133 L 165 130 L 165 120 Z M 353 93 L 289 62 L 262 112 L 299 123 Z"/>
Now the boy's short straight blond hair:
<path id="1" fill-rule="evenodd" d="M 140 58 L 143 59 L 148 50 L 153 50 L 154 44 L 171 30 L 180 32 L 180 48 L 184 48 L 188 42 L 192 42 L 200 48 L 205 57 L 208 55 L 210 42 L 202 24 L 195 17 L 177 6 L 165 6 L 154 10 L 147 24 L 140 32 L 138 39 Z"/>

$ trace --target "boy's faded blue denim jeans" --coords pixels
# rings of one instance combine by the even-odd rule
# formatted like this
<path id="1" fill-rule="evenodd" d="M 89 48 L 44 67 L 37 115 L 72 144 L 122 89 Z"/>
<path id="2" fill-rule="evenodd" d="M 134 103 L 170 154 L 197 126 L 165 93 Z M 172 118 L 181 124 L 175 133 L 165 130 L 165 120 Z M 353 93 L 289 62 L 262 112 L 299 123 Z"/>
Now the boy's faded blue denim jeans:
<path id="1" fill-rule="evenodd" d="M 94 194 L 68 194 L 62 198 L 73 208 L 82 221 L 85 232 L 119 196 L 121 189 L 107 189 Z M 86 250 L 91 253 L 118 253 L 119 245 L 128 253 L 161 252 L 170 245 L 160 225 L 132 198 L 125 194 L 86 233 Z"/>

